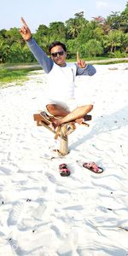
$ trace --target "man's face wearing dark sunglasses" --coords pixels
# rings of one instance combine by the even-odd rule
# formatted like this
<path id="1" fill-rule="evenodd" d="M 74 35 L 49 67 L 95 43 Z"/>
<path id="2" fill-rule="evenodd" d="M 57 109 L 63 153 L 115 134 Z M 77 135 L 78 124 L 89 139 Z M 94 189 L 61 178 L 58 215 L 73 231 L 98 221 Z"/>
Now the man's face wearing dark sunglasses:
<path id="1" fill-rule="evenodd" d="M 67 53 L 61 47 L 61 45 L 54 46 L 51 51 L 51 58 L 55 62 L 55 64 L 60 66 L 65 66 Z"/>

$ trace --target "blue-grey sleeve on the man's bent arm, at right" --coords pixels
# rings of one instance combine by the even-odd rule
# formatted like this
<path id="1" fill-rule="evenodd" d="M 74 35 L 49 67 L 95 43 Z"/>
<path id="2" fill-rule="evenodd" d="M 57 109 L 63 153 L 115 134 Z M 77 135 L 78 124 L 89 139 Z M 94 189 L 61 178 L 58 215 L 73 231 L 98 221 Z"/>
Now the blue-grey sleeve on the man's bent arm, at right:
<path id="1" fill-rule="evenodd" d="M 76 73 L 77 76 L 81 76 L 81 75 L 93 76 L 96 73 L 96 68 L 90 64 L 87 64 L 86 67 L 84 68 L 81 68 L 76 64 L 76 67 L 77 67 L 77 73 Z"/>

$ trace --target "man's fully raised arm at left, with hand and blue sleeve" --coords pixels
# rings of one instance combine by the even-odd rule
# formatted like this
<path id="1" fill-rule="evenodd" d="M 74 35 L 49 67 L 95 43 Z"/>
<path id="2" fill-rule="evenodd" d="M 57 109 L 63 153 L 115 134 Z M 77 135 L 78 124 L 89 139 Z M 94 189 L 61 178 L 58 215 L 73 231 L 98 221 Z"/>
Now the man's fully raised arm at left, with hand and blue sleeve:
<path id="1" fill-rule="evenodd" d="M 32 32 L 26 24 L 26 21 L 21 17 L 21 22 L 23 26 L 20 28 L 20 34 L 22 38 L 26 41 L 28 48 L 31 50 L 32 54 L 44 69 L 45 73 L 49 73 L 53 67 L 53 61 L 45 54 L 44 50 L 41 49 L 36 41 L 32 38 Z"/>

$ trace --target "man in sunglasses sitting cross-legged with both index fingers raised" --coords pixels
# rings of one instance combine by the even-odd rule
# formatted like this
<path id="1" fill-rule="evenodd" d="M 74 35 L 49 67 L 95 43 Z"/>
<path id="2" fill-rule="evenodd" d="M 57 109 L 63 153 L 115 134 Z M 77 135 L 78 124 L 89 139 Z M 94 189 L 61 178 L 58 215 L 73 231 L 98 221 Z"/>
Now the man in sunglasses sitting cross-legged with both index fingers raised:
<path id="1" fill-rule="evenodd" d="M 74 98 L 75 77 L 78 75 L 92 76 L 96 73 L 95 67 L 87 65 L 79 59 L 77 63 L 66 62 L 67 48 L 65 44 L 55 41 L 49 45 L 49 58 L 32 38 L 32 33 L 21 18 L 23 26 L 20 29 L 22 38 L 26 41 L 28 48 L 38 60 L 44 72 L 48 74 L 48 94 L 45 96 L 45 111 L 61 119 L 54 121 L 54 127 L 64 123 L 76 121 L 81 124 L 84 116 L 93 108 L 92 105 L 77 106 Z"/>

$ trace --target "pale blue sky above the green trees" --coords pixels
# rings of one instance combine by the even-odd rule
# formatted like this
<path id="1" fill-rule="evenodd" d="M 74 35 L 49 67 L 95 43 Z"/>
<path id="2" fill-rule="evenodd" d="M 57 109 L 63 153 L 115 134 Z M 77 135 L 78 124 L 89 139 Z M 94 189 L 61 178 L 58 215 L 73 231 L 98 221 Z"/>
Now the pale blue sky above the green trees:
<path id="1" fill-rule="evenodd" d="M 22 26 L 22 16 L 32 32 L 38 26 L 49 26 L 50 22 L 65 22 L 74 18 L 76 13 L 84 11 L 84 18 L 102 16 L 106 18 L 112 12 L 122 12 L 127 0 L 0 0 L 0 30 Z"/>

